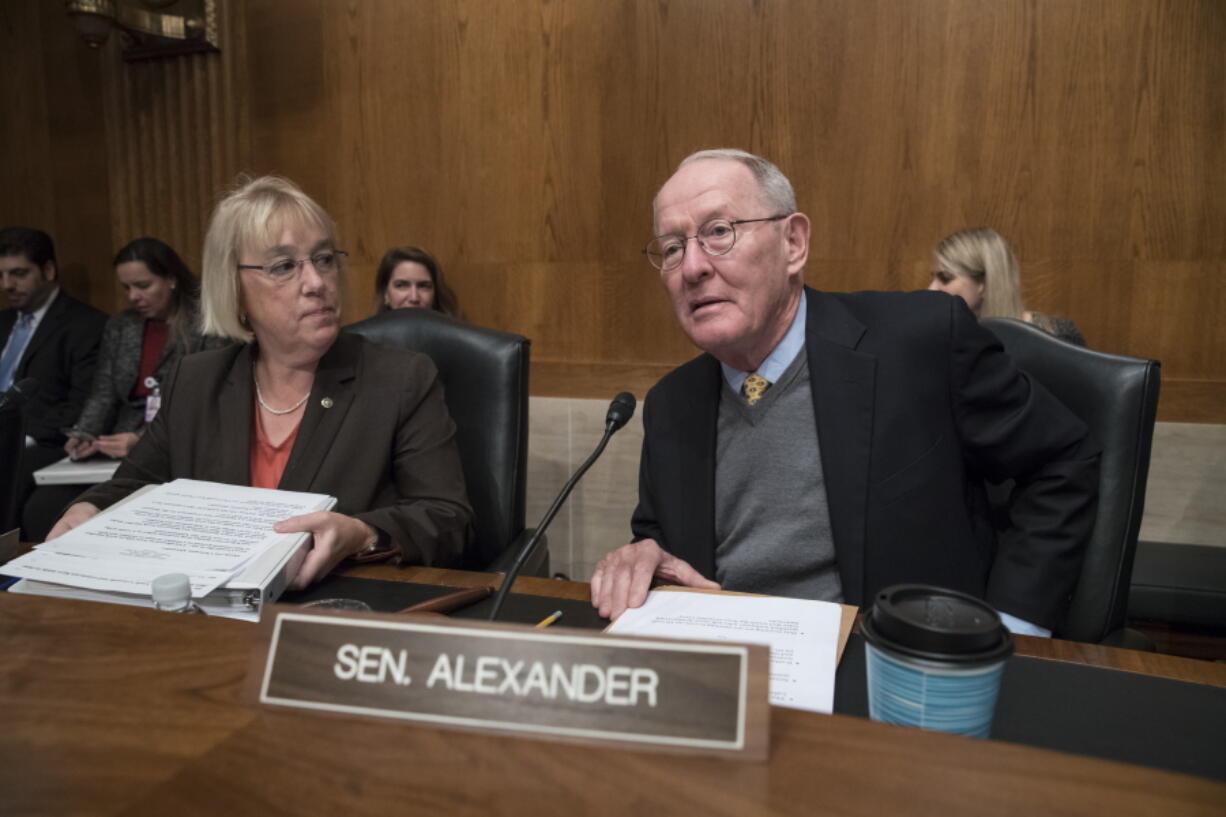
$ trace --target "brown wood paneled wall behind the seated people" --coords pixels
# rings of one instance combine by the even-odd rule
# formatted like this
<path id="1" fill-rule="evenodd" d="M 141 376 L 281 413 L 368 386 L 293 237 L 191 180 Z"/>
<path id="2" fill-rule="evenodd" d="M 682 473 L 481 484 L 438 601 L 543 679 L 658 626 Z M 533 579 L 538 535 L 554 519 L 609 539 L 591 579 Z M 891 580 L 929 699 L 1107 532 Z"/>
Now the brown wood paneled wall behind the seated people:
<path id="1" fill-rule="evenodd" d="M 153 233 L 195 261 L 219 189 L 283 173 L 340 223 L 348 319 L 419 244 L 474 321 L 532 337 L 535 391 L 641 394 L 693 353 L 639 253 L 651 198 L 738 146 L 813 217 L 812 285 L 926 286 L 939 238 L 989 224 L 1027 307 L 1160 358 L 1163 418 L 1226 422 L 1219 0 L 223 0 L 221 55 L 135 65 L 54 5 L 0 12 L 29 61 L 0 91 L 42 128 L 4 125 L 2 172 L 50 166 L 29 212 L 78 258 Z"/>

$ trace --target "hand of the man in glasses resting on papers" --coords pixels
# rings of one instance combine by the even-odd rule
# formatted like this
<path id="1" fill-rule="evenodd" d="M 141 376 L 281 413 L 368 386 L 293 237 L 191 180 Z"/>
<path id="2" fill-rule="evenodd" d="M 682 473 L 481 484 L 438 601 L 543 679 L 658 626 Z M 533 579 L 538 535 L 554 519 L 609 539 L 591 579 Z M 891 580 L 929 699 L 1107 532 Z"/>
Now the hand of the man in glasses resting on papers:
<path id="1" fill-rule="evenodd" d="M 718 590 L 694 567 L 664 551 L 653 539 L 644 539 L 617 548 L 596 566 L 592 573 L 592 606 L 604 618 L 617 618 L 628 607 L 641 607 L 647 600 L 652 579 L 687 588 Z"/>

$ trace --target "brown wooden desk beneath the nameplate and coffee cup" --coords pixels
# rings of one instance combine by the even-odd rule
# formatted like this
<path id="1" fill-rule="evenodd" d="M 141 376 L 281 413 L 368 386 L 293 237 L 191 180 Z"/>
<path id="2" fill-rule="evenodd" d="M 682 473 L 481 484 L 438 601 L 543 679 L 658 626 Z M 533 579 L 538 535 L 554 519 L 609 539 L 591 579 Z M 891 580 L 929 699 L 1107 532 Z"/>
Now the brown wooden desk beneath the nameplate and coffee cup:
<path id="1" fill-rule="evenodd" d="M 490 577 L 367 567 L 468 586 Z M 584 599 L 586 585 L 516 591 Z M 1226 785 L 998 741 L 772 709 L 741 763 L 264 709 L 256 628 L 0 594 L 0 813 L 1222 815 Z M 1226 667 L 1020 638 L 1018 651 L 1226 686 Z"/>

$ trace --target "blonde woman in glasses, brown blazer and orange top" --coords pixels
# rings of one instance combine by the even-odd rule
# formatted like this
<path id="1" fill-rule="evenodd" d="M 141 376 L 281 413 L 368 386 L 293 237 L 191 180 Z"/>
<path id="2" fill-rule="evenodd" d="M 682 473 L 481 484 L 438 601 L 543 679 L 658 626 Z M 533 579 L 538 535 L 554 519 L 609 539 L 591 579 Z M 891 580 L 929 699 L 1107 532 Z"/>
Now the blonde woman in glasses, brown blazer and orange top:
<path id="1" fill-rule="evenodd" d="M 205 334 L 238 342 L 179 362 L 114 478 L 50 539 L 143 485 L 190 477 L 337 498 L 335 512 L 275 525 L 313 534 L 295 588 L 346 557 L 457 559 L 472 512 L 438 373 L 423 355 L 340 334 L 343 256 L 332 220 L 286 179 L 223 199 L 205 237 L 201 314 Z"/>

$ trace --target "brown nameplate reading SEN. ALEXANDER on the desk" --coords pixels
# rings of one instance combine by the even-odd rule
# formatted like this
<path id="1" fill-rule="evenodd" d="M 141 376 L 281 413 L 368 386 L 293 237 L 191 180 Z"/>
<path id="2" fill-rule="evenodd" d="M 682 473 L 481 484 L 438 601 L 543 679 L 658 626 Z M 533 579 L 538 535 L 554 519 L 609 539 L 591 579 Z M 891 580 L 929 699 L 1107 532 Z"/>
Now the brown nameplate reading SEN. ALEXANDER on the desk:
<path id="1" fill-rule="evenodd" d="M 761 759 L 765 646 L 271 608 L 260 703 Z"/>

